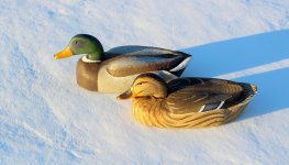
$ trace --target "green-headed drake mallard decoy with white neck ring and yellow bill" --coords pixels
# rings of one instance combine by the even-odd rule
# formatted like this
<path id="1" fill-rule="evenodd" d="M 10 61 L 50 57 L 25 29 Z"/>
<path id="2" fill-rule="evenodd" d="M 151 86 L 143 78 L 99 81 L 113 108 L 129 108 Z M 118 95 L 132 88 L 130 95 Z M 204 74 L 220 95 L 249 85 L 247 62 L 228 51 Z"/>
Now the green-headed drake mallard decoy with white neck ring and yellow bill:
<path id="1" fill-rule="evenodd" d="M 101 43 L 88 34 L 74 36 L 68 46 L 54 58 L 87 54 L 77 63 L 77 84 L 88 90 L 123 92 L 135 77 L 154 72 L 164 79 L 179 76 L 190 55 L 157 47 L 120 46 L 103 52 Z"/>

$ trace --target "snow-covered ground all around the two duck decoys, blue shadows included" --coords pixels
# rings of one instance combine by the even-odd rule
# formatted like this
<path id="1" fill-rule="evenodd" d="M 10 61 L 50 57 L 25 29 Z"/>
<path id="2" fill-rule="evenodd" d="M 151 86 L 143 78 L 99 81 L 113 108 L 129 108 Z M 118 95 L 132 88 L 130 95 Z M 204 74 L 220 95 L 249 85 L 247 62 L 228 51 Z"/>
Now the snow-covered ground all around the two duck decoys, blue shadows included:
<path id="1" fill-rule="evenodd" d="M 289 2 L 286 0 L 2 0 L 0 164 L 286 164 L 289 162 Z M 79 88 L 80 57 L 55 61 L 71 36 L 104 50 L 184 51 L 184 76 L 253 82 L 258 94 L 229 124 L 162 130 L 131 101 Z"/>

